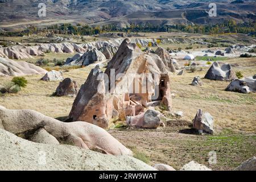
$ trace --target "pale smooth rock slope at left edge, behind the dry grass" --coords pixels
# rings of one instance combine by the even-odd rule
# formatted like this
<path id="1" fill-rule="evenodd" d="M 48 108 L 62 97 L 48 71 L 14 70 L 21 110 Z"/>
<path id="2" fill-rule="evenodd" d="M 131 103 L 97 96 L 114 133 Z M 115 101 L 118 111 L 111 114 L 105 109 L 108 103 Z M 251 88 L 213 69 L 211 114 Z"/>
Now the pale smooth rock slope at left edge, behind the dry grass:
<path id="1" fill-rule="evenodd" d="M 34 64 L 0 57 L 0 76 L 26 76 L 46 73 L 45 69 Z"/>

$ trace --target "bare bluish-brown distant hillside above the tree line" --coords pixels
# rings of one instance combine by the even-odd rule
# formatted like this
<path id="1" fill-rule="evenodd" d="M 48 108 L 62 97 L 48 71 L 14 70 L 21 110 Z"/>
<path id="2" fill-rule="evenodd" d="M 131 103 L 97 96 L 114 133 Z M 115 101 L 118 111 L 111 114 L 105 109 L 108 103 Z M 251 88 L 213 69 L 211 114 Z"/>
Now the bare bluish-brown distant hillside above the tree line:
<path id="1" fill-rule="evenodd" d="M 216 2 L 217 17 L 206 11 Z M 199 0 L 0 0 L 0 27 L 11 30 L 30 24 L 48 26 L 56 23 L 88 23 L 126 26 L 131 23 L 208 24 L 224 19 L 236 22 L 255 20 L 255 1 Z M 46 17 L 39 18 L 38 5 L 45 3 Z"/>

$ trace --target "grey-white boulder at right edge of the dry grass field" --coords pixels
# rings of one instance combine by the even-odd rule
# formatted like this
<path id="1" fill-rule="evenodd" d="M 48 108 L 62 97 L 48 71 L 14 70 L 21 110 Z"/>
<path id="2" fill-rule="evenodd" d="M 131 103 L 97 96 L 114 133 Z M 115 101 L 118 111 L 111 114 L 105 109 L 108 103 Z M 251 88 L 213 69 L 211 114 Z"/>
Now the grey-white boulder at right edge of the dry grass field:
<path id="1" fill-rule="evenodd" d="M 256 78 L 248 77 L 243 80 L 233 80 L 226 88 L 226 91 L 240 93 L 256 92 Z"/>

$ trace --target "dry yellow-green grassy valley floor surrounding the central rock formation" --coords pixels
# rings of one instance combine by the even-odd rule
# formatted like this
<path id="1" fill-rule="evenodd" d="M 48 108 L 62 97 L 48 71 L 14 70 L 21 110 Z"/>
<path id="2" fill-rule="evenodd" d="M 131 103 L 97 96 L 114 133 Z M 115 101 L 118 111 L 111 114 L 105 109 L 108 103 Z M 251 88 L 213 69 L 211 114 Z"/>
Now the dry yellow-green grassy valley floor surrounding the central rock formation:
<path id="1" fill-rule="evenodd" d="M 256 73 L 256 59 L 228 59 L 225 62 L 238 64 L 233 67 L 243 76 Z M 180 64 L 183 64 L 181 61 Z M 83 84 L 93 66 L 70 69 L 64 77 L 71 77 L 79 86 Z M 204 77 L 208 68 L 201 71 L 186 71 L 184 76 L 170 76 L 174 111 L 183 111 L 184 117 L 172 118 L 166 128 L 138 130 L 115 126 L 109 130 L 125 146 L 134 151 L 135 157 L 148 164 L 166 163 L 180 169 L 185 163 L 195 160 L 209 166 L 209 152 L 217 154 L 214 170 L 233 169 L 256 154 L 256 94 L 226 92 L 229 82 L 201 79 L 203 86 L 191 86 L 193 77 Z M 73 97 L 52 97 L 59 82 L 39 81 L 42 76 L 26 76 L 27 88 L 17 94 L 0 96 L 0 105 L 8 109 L 32 109 L 54 118 L 67 117 Z M 11 77 L 0 77 L 0 84 Z M 209 112 L 214 118 L 216 134 L 196 135 L 191 129 L 192 119 L 198 109 Z"/>

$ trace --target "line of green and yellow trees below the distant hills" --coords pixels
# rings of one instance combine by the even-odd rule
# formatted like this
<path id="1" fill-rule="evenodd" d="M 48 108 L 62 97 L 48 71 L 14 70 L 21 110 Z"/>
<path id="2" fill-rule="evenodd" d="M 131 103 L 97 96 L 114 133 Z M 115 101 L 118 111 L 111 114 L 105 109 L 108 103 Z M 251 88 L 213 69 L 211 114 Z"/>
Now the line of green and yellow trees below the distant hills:
<path id="1" fill-rule="evenodd" d="M 234 20 L 225 20 L 218 24 L 195 24 L 195 25 L 184 25 L 176 24 L 173 26 L 161 26 L 154 25 L 151 23 L 141 24 L 130 24 L 129 26 L 120 28 L 116 24 L 106 24 L 103 26 L 92 27 L 87 24 L 72 25 L 70 23 L 55 24 L 47 28 L 37 28 L 31 26 L 22 32 L 15 33 L 14 35 L 27 35 L 27 34 L 38 34 L 42 31 L 53 31 L 55 34 L 73 34 L 73 35 L 96 35 L 104 32 L 189 32 L 199 34 L 224 34 L 224 33 L 242 33 L 249 34 L 255 37 L 256 23 L 236 23 Z M 3 34 L 3 33 L 2 33 Z M 1 35 L 1 33 L 0 33 Z M 7 32 L 7 36 L 13 35 L 11 32 Z"/>

